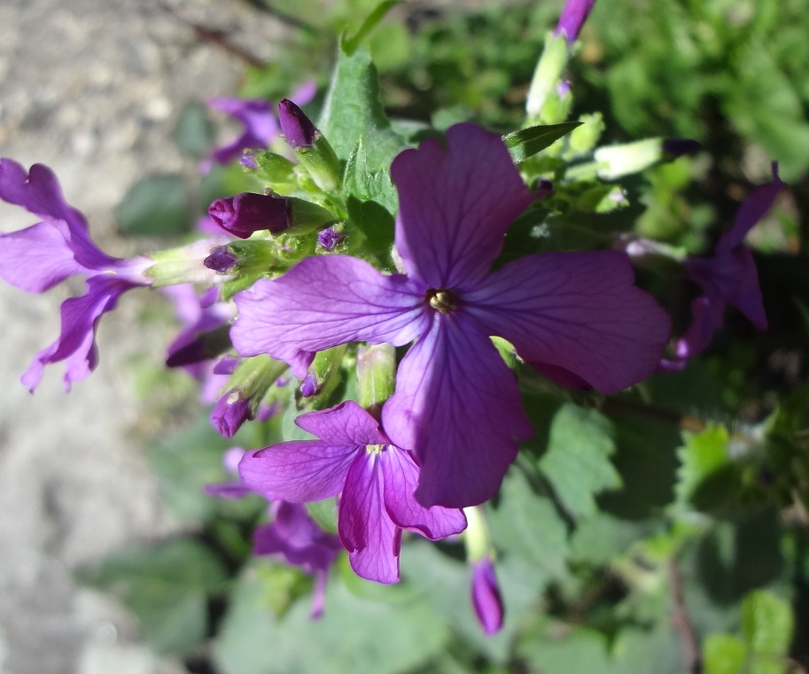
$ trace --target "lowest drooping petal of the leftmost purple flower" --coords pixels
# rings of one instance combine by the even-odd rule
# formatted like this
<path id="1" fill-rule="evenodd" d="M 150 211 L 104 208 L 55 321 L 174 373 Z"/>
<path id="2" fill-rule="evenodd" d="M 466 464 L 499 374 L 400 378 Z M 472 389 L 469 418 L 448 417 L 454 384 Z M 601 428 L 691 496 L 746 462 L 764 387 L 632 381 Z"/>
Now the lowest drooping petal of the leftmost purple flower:
<path id="1" fill-rule="evenodd" d="M 89 376 L 98 364 L 96 327 L 103 314 L 112 311 L 121 293 L 135 284 L 113 275 L 97 275 L 87 280 L 87 292 L 67 298 L 61 306 L 62 327 L 58 339 L 36 354 L 20 381 L 30 391 L 39 385 L 46 365 L 66 361 L 65 388 Z"/>

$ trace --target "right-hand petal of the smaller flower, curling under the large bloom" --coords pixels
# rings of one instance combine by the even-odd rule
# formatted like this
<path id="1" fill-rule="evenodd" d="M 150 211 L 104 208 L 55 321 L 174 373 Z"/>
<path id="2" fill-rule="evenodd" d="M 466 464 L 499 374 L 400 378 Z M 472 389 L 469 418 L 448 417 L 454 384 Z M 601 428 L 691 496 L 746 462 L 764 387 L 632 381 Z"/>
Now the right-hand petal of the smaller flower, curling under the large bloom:
<path id="1" fill-rule="evenodd" d="M 447 538 L 466 529 L 463 510 L 424 507 L 416 500 L 413 494 L 418 486 L 418 466 L 407 452 L 388 445 L 378 461 L 385 476 L 385 507 L 393 523 L 430 540 Z"/>

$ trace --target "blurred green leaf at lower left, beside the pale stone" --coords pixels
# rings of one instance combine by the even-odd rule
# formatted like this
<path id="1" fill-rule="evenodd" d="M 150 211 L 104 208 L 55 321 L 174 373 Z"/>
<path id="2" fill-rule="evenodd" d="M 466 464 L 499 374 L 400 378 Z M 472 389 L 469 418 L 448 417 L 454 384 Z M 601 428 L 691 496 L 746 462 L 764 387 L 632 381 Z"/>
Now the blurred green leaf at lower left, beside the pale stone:
<path id="1" fill-rule="evenodd" d="M 187 653 L 206 638 L 208 597 L 221 593 L 227 578 L 219 558 L 191 538 L 122 550 L 82 575 L 115 594 L 164 654 Z"/>

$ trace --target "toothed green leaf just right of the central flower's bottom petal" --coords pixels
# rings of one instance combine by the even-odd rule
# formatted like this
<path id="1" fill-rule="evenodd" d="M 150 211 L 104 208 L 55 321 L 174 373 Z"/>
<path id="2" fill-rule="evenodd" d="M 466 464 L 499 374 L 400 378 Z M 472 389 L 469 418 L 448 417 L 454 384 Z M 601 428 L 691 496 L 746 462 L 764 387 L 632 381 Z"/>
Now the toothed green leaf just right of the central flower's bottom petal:
<path id="1" fill-rule="evenodd" d="M 548 451 L 539 466 L 564 508 L 574 517 L 594 515 L 595 494 L 618 489 L 621 478 L 610 420 L 595 409 L 564 405 L 550 425 Z"/>

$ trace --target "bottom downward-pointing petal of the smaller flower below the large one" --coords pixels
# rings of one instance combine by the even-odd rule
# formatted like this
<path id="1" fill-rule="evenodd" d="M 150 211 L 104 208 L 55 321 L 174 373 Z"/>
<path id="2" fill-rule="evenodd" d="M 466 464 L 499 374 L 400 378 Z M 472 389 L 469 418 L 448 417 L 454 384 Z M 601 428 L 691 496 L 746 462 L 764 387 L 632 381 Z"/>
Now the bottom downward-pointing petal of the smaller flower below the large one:
<path id="1" fill-rule="evenodd" d="M 361 452 L 346 476 L 338 532 L 357 576 L 377 583 L 399 581 L 401 528 L 385 510 L 383 476 L 377 455 Z"/>

